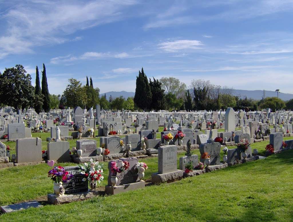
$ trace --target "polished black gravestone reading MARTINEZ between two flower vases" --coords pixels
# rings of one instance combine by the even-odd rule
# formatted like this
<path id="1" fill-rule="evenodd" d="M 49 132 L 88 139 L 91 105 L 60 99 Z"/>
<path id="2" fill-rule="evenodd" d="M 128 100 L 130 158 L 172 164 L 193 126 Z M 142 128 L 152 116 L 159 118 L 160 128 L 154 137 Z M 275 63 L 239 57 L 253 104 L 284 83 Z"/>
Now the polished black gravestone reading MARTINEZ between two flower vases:
<path id="1" fill-rule="evenodd" d="M 73 175 L 73 178 L 68 183 L 62 184 L 65 189 L 65 194 L 88 191 L 88 180 L 82 181 L 86 176 L 79 173 L 79 168 L 76 166 L 66 166 L 64 170 L 66 170 L 68 174 Z"/>

